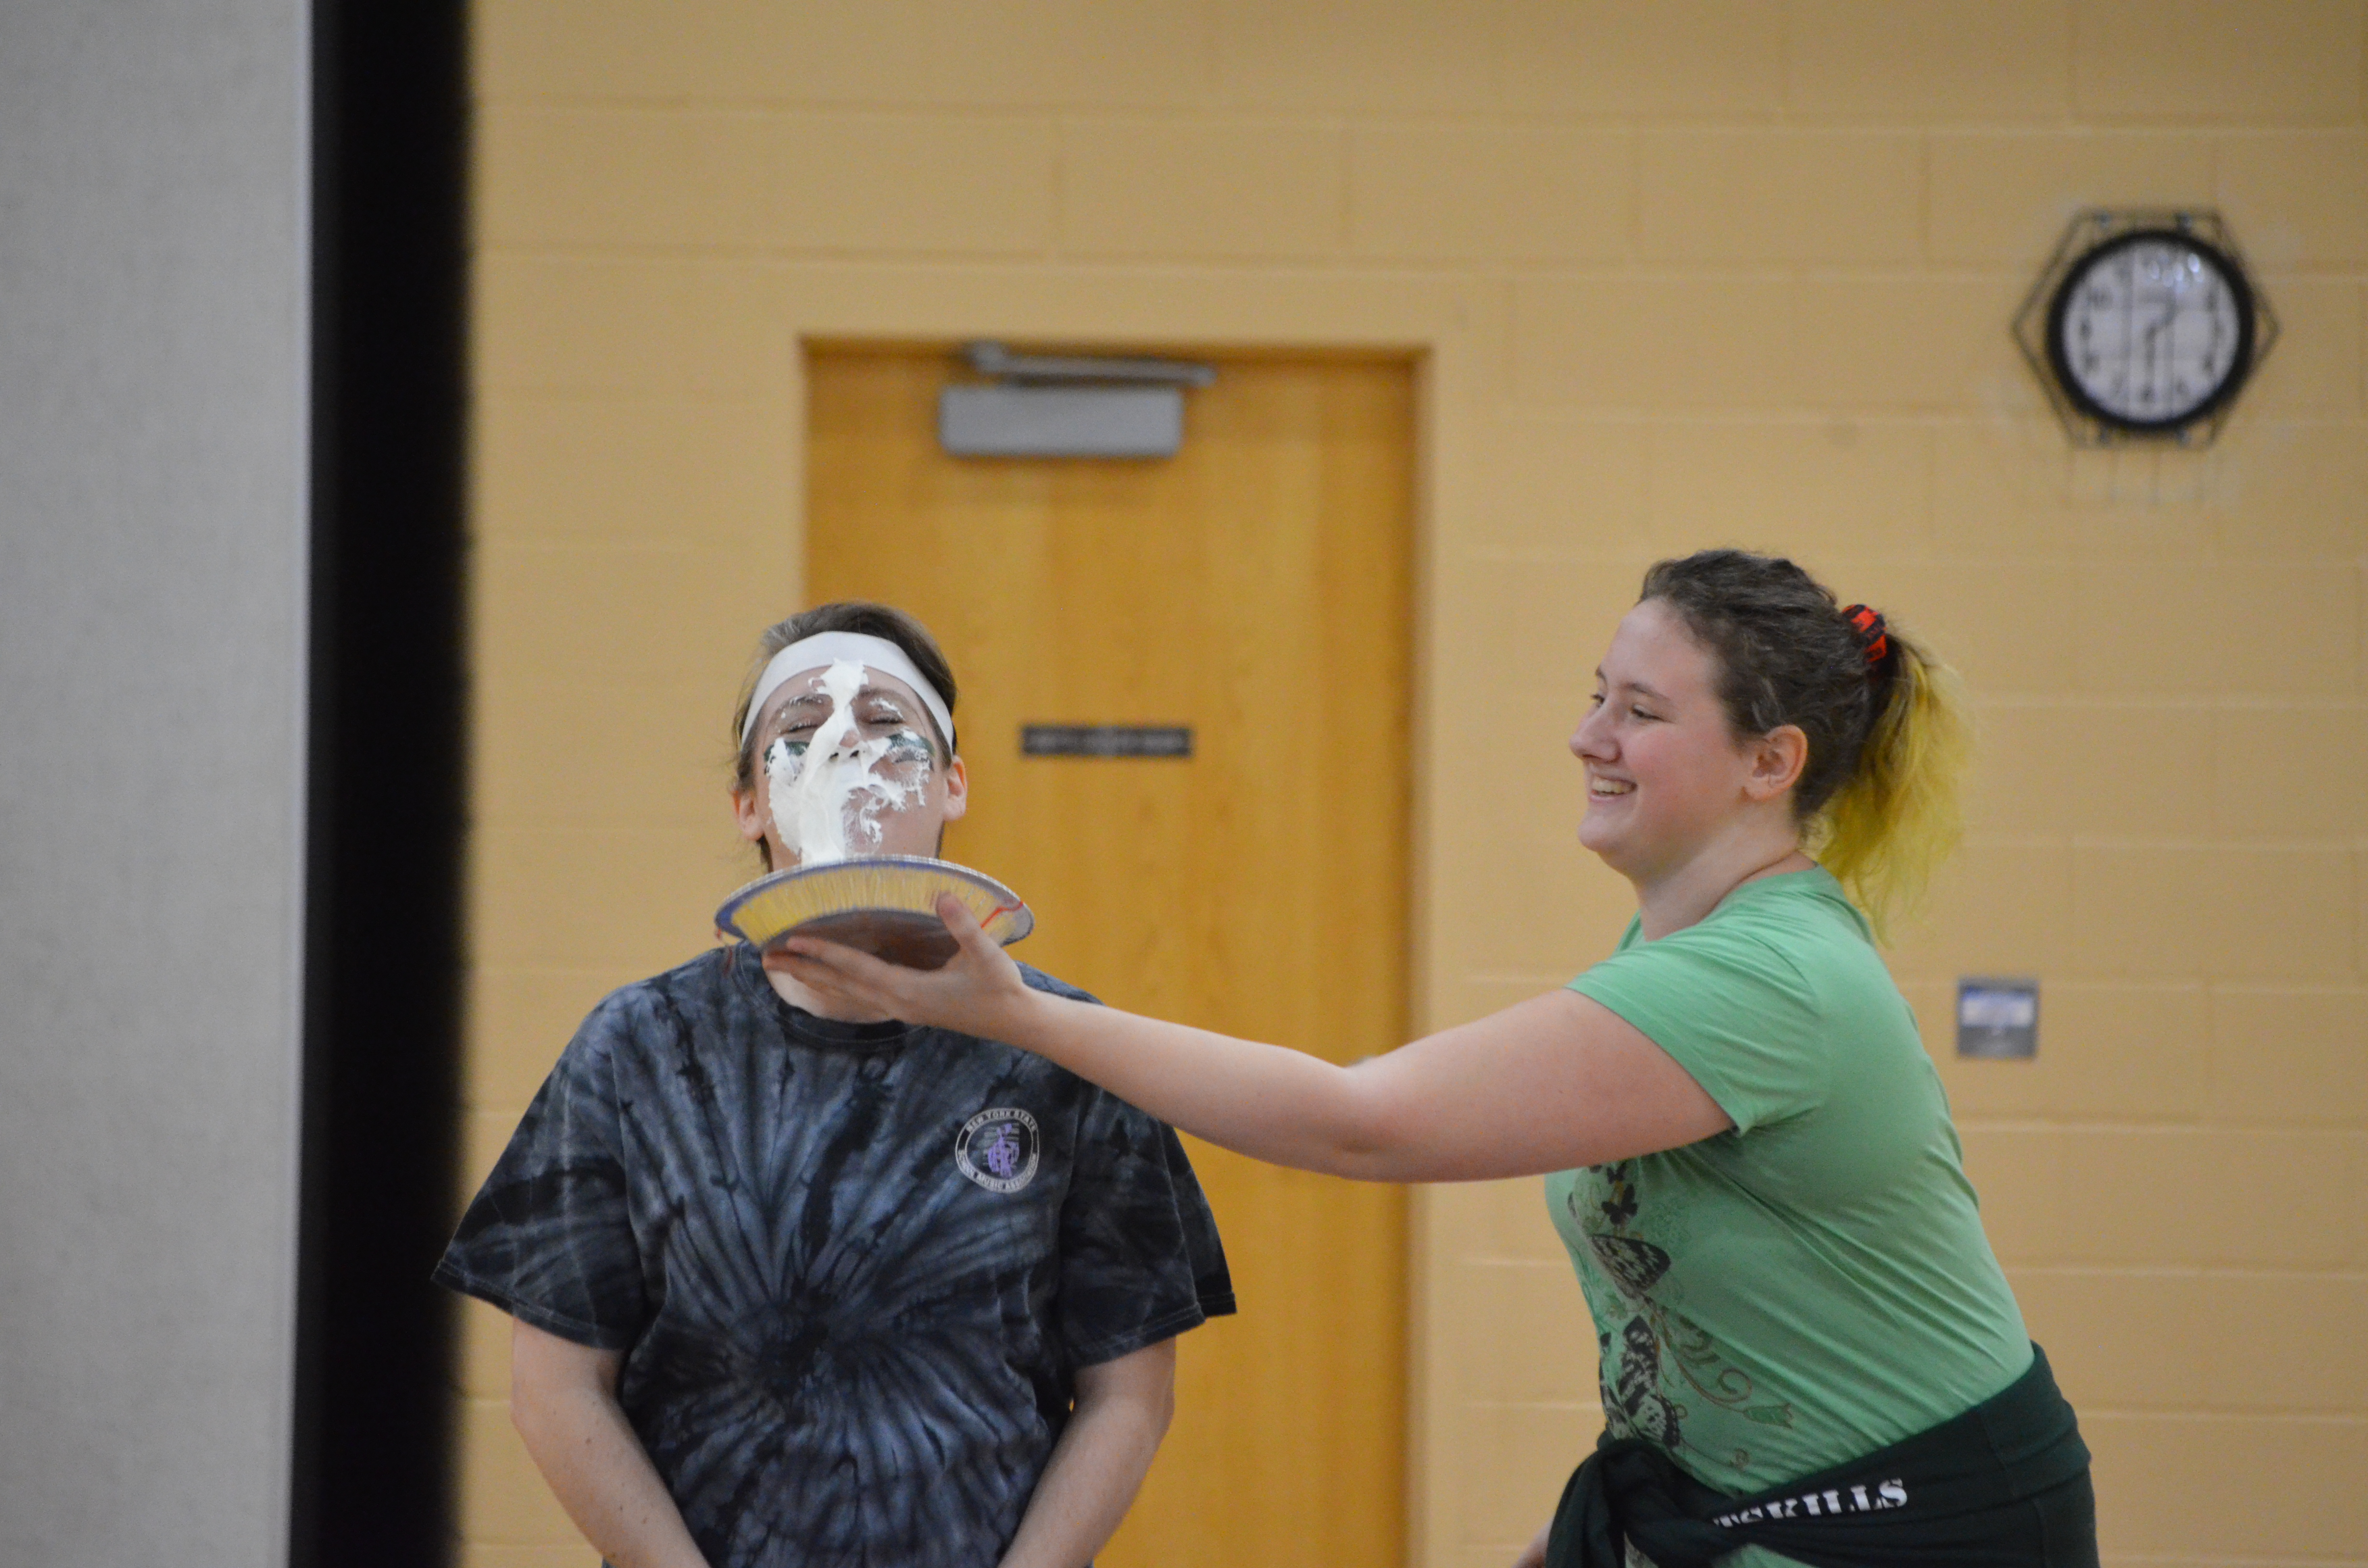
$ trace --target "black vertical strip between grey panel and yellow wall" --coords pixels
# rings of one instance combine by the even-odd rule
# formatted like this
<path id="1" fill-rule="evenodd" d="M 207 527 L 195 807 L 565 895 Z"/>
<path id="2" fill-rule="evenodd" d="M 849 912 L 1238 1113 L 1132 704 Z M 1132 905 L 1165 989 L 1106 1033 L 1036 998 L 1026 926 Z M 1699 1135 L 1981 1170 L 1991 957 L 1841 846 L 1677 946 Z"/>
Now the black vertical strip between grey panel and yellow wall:
<path id="1" fill-rule="evenodd" d="M 452 1551 L 466 5 L 313 5 L 294 1568 Z"/>

